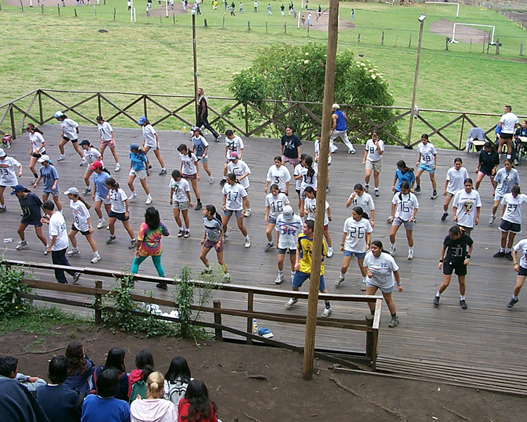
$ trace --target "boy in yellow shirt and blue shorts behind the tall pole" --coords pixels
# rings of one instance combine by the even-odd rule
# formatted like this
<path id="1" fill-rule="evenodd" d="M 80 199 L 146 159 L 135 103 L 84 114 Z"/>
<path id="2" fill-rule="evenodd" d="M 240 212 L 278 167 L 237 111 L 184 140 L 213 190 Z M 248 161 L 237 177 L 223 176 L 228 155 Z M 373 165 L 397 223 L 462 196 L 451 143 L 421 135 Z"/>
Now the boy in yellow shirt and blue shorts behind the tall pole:
<path id="1" fill-rule="evenodd" d="M 294 277 L 293 277 L 293 291 L 299 291 L 299 288 L 304 284 L 304 281 L 311 276 L 311 257 L 313 255 L 313 229 L 315 228 L 315 222 L 313 220 L 307 220 L 302 226 L 302 233 L 298 236 L 297 246 L 297 262 L 294 264 Z M 327 246 L 325 241 L 322 241 L 322 263 L 320 264 L 320 293 L 327 293 L 327 289 L 324 283 L 324 257 L 327 255 Z M 297 298 L 291 298 L 285 304 L 287 309 L 291 309 L 293 305 L 298 302 Z M 324 318 L 330 316 L 331 305 L 329 300 L 325 300 L 325 308 L 322 312 Z"/>

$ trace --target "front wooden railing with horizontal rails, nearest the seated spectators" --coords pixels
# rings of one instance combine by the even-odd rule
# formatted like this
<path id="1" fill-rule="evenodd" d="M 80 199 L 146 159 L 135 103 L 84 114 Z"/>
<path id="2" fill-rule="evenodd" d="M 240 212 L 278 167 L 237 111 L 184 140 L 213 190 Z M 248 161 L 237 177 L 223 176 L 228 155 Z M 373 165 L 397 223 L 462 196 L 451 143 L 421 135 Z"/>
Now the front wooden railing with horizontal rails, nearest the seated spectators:
<path id="1" fill-rule="evenodd" d="M 20 267 L 26 273 L 33 270 L 42 270 L 49 272 L 49 279 L 54 279 L 53 270 L 55 269 L 64 269 L 68 271 L 77 271 L 85 276 L 93 276 L 96 280 L 94 281 L 94 286 L 75 286 L 70 284 L 60 284 L 55 281 L 42 281 L 36 277 L 25 277 L 23 283 L 27 284 L 33 289 L 41 290 L 37 293 L 27 293 L 21 294 L 22 298 L 27 298 L 30 300 L 39 300 L 42 302 L 56 303 L 58 305 L 67 305 L 72 307 L 83 307 L 87 309 L 93 309 L 95 312 L 95 321 L 96 324 L 100 324 L 102 321 L 102 312 L 105 310 L 103 307 L 103 297 L 108 295 L 111 290 L 108 288 L 103 288 L 103 281 L 115 281 L 119 282 L 127 274 L 123 271 L 110 271 L 105 269 L 94 269 L 93 267 L 68 267 L 56 264 L 41 264 L 38 262 L 25 262 L 18 260 L 3 260 L 0 264 L 5 264 L 8 267 Z M 157 276 L 144 276 L 136 274 L 134 275 L 134 281 L 141 281 L 146 283 L 152 283 L 152 286 L 155 283 L 167 283 L 169 285 L 177 284 L 178 281 L 173 279 L 167 279 Z M 202 281 L 193 281 L 193 286 L 197 289 L 200 288 L 211 288 L 209 283 L 204 283 Z M 240 286 L 235 284 L 221 284 L 213 285 L 213 289 L 221 290 L 223 292 L 235 293 L 236 300 L 242 301 L 247 297 L 246 303 L 247 306 L 245 309 L 235 309 L 235 308 L 224 308 L 221 307 L 220 300 L 214 300 L 213 307 L 210 306 L 201 306 L 192 305 L 191 308 L 195 312 L 200 312 L 204 314 L 213 314 L 214 323 L 207 321 L 193 321 L 193 324 L 197 326 L 203 326 L 207 328 L 214 328 L 216 340 L 223 340 L 223 331 L 232 333 L 235 335 L 240 335 L 247 339 L 247 344 L 252 344 L 254 340 L 257 340 L 268 345 L 278 346 L 293 350 L 295 352 L 303 352 L 303 347 L 297 345 L 291 345 L 278 340 L 272 340 L 271 338 L 263 338 L 260 335 L 252 333 L 252 321 L 253 319 L 258 319 L 261 321 L 275 321 L 285 324 L 299 324 L 305 326 L 306 316 L 294 315 L 294 314 L 277 314 L 274 312 L 256 312 L 254 310 L 255 305 L 257 304 L 257 297 L 278 297 L 278 298 L 299 298 L 307 299 L 308 293 L 303 292 L 293 292 L 287 290 L 278 290 L 270 288 L 259 288 L 251 286 Z M 60 295 L 53 295 L 53 292 Z M 68 297 L 70 295 L 70 297 Z M 91 300 L 79 300 L 78 298 L 72 298 L 71 295 L 84 295 Z M 149 295 L 140 295 L 137 293 L 131 294 L 131 299 L 136 302 L 145 302 L 149 304 L 155 304 L 163 307 L 169 307 L 171 309 L 176 308 L 176 304 L 172 300 L 152 298 Z M 375 303 L 375 315 L 371 321 L 365 321 L 365 319 L 337 319 L 337 318 L 325 318 L 317 319 L 317 325 L 323 327 L 332 327 L 332 328 L 341 328 L 341 329 L 350 329 L 356 331 L 363 331 L 366 333 L 366 350 L 362 354 L 356 354 L 358 357 L 363 357 L 367 359 L 372 368 L 375 369 L 377 362 L 377 350 L 379 347 L 379 324 L 381 318 L 381 307 L 382 299 L 377 298 L 371 295 L 334 295 L 334 294 L 322 294 L 319 295 L 319 300 L 333 300 L 337 302 L 361 302 L 364 305 L 367 303 Z M 108 309 L 110 310 L 110 309 Z M 142 312 L 137 312 L 138 314 L 143 314 Z M 221 316 L 236 316 L 247 321 L 246 331 L 242 331 L 238 328 L 227 326 L 222 323 Z M 156 318 L 164 319 L 167 321 L 178 322 L 178 319 L 169 318 L 166 316 L 155 315 Z M 342 336 L 342 338 L 346 338 Z M 344 364 L 346 366 L 353 366 L 348 360 L 335 357 L 333 355 L 327 354 L 325 352 L 315 352 L 315 356 L 327 359 L 331 362 L 336 362 L 339 364 Z"/>

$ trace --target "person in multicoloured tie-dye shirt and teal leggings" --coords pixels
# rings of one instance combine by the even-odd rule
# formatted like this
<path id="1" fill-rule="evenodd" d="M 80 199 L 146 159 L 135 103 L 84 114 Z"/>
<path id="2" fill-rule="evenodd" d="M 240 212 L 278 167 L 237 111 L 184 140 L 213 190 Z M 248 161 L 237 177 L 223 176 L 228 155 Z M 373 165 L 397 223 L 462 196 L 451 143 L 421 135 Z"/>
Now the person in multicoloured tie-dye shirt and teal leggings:
<path id="1" fill-rule="evenodd" d="M 141 223 L 137 234 L 136 255 L 132 262 L 131 274 L 137 274 L 141 262 L 152 257 L 157 275 L 164 277 L 164 269 L 161 264 L 161 238 L 170 236 L 169 229 L 160 219 L 160 212 L 154 207 L 148 207 L 145 211 L 145 222 Z M 167 290 L 167 283 L 157 283 L 157 288 Z"/>

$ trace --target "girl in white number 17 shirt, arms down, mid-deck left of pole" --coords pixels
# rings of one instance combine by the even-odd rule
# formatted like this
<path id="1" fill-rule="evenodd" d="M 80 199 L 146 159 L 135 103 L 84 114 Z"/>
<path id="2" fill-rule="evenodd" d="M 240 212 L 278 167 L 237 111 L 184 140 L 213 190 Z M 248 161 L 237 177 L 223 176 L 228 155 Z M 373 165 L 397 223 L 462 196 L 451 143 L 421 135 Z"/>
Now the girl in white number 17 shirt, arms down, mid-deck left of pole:
<path id="1" fill-rule="evenodd" d="M 227 183 L 223 186 L 223 217 L 221 217 L 221 224 L 223 224 L 223 238 L 228 236 L 228 222 L 230 217 L 234 214 L 238 229 L 245 237 L 245 248 L 251 247 L 251 238 L 247 233 L 247 229 L 243 225 L 243 216 L 245 214 L 244 207 L 247 206 L 247 192 L 241 184 L 238 183 L 236 175 L 227 174 Z"/>

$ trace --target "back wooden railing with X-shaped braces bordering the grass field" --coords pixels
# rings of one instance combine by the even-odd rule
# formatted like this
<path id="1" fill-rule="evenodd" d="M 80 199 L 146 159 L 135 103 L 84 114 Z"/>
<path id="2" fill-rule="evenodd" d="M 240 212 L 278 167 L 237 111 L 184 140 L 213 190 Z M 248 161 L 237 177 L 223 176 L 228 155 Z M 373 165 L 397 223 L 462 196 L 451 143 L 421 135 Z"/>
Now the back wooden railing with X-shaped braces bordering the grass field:
<path id="1" fill-rule="evenodd" d="M 59 98 L 65 96 L 65 98 Z M 259 104 L 275 104 L 276 113 L 266 113 L 261 106 L 249 102 L 242 104 L 235 98 L 209 97 L 209 121 L 212 126 L 228 127 L 235 129 L 243 136 L 254 136 L 267 127 L 273 126 L 279 131 L 285 130 L 284 122 L 299 122 L 296 128 L 301 139 L 313 139 L 316 132 L 321 128 L 321 117 L 318 111 L 321 103 L 309 103 L 299 101 L 262 100 Z M 215 108 L 220 105 L 222 110 Z M 365 110 L 368 108 L 389 108 L 395 111 L 394 117 L 384 122 L 374 122 Z M 148 117 L 150 122 L 156 126 L 165 124 L 171 119 L 169 129 L 186 125 L 190 128 L 195 120 L 195 103 L 193 96 L 170 95 L 170 94 L 141 94 L 134 92 L 119 91 L 65 91 L 58 89 L 35 89 L 27 94 L 0 105 L 0 134 L 11 132 L 15 139 L 22 133 L 25 121 L 30 120 L 37 124 L 53 122 L 53 113 L 56 110 L 72 115 L 76 120 L 88 124 L 96 124 L 96 115 L 105 116 L 108 122 L 115 122 L 120 126 L 136 126 L 140 115 Z M 383 106 L 355 106 L 353 104 L 341 104 L 341 109 L 348 116 L 356 115 L 366 125 L 363 129 L 354 130 L 349 127 L 350 140 L 356 141 L 369 136 L 372 130 L 377 129 L 381 137 L 391 143 L 401 146 L 415 146 L 419 143 L 419 136 L 414 136 L 417 141 L 408 143 L 400 139 L 390 126 L 394 122 L 406 122 L 410 118 L 408 107 L 383 107 Z M 249 117 L 256 113 L 258 119 Z M 299 118 L 302 117 L 302 118 Z M 524 118 L 525 116 L 519 116 Z M 308 120 L 309 124 L 301 126 L 300 122 Z M 479 120 L 476 122 L 476 120 Z M 486 134 L 493 132 L 500 115 L 495 113 L 471 113 L 467 111 L 436 110 L 432 108 L 421 108 L 414 124 L 414 131 L 427 132 L 429 136 L 439 136 L 446 144 L 457 150 L 463 149 L 465 138 L 471 127 L 486 127 Z M 490 123 L 490 124 L 489 124 Z M 460 125 L 456 127 L 455 124 Z M 467 126 L 467 127 L 465 127 Z M 304 129 L 304 127 L 306 129 Z M 4 128 L 5 130 L 1 130 Z M 307 129 L 308 128 L 308 129 Z M 401 125 L 401 133 L 406 132 L 406 127 Z M 356 132 L 353 134 L 353 132 Z M 489 140 L 493 140 L 490 136 Z"/>

